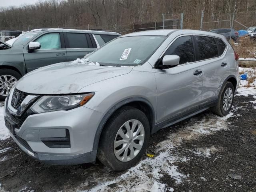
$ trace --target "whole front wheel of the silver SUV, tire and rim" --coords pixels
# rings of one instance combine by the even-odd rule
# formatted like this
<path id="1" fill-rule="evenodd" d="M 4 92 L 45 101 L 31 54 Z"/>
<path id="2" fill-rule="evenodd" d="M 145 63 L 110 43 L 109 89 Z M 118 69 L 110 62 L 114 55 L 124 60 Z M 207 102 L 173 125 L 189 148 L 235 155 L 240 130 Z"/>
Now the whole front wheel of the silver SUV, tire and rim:
<path id="1" fill-rule="evenodd" d="M 133 107 L 120 108 L 102 131 L 97 157 L 113 170 L 126 170 L 139 162 L 149 136 L 148 118 L 142 111 Z"/>

